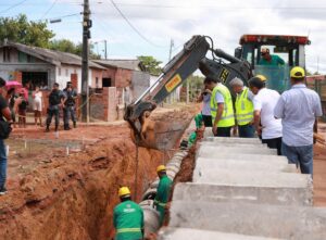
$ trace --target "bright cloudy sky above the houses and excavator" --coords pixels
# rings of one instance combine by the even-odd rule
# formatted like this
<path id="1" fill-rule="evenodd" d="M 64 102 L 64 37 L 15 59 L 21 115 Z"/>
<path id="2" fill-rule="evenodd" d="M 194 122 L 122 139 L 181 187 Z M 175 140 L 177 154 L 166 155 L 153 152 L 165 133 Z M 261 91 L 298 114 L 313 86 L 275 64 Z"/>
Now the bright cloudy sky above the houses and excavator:
<path id="1" fill-rule="evenodd" d="M 153 55 L 165 64 L 192 35 L 208 35 L 214 48 L 233 54 L 243 34 L 309 36 L 306 67 L 326 74 L 326 1 L 321 0 L 89 0 L 95 51 L 109 59 Z M 114 8 L 113 2 L 123 13 Z M 1 16 L 24 13 L 50 21 L 57 39 L 82 41 L 83 0 L 0 0 Z M 128 24 L 131 24 L 131 26 Z"/>

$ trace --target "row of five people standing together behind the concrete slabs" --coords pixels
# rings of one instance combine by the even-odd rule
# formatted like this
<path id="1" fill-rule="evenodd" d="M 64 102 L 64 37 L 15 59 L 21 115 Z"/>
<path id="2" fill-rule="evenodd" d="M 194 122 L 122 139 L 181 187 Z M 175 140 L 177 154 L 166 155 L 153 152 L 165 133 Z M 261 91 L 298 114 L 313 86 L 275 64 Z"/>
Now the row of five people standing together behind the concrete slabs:
<path id="1" fill-rule="evenodd" d="M 291 70 L 292 87 L 281 96 L 266 88 L 267 80 L 258 75 L 246 87 L 241 79 L 234 78 L 229 83 L 237 96 L 234 104 L 229 89 L 220 79 L 206 77 L 199 97 L 203 123 L 216 137 L 230 137 L 231 129 L 242 138 L 256 132 L 268 148 L 277 149 L 278 155 L 286 155 L 301 173 L 312 175 L 313 129 L 323 115 L 319 96 L 306 88 L 305 72 L 300 66 Z"/>

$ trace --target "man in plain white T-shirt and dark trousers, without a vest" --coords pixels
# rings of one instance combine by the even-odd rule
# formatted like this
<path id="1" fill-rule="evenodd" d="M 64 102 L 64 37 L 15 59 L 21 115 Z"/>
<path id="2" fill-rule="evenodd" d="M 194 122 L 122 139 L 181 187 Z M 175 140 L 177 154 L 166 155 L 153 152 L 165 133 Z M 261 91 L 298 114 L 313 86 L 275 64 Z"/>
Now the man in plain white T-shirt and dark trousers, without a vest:
<path id="1" fill-rule="evenodd" d="M 277 149 L 280 155 L 281 148 L 281 122 L 274 117 L 274 108 L 279 99 L 279 93 L 265 88 L 265 81 L 261 76 L 252 77 L 249 87 L 253 98 L 253 115 L 256 132 L 262 137 L 262 142 L 271 149 Z"/>

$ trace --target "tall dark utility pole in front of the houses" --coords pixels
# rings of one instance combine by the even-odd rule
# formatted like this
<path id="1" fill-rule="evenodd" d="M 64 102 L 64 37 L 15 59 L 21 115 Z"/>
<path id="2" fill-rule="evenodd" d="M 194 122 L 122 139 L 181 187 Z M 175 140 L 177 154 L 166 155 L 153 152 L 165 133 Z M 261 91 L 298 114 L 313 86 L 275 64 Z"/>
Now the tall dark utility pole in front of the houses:
<path id="1" fill-rule="evenodd" d="M 91 20 L 89 18 L 89 1 L 84 0 L 83 12 L 83 55 L 82 55 L 82 121 L 89 122 L 89 89 L 88 89 L 88 39 L 90 38 Z"/>

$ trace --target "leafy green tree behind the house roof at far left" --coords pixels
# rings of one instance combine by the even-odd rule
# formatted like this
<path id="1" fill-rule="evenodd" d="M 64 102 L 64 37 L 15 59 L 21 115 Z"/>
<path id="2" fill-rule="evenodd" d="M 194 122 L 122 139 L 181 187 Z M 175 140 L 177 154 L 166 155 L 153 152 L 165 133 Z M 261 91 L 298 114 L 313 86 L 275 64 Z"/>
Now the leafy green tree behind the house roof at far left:
<path id="1" fill-rule="evenodd" d="M 49 47 L 54 33 L 47 28 L 46 22 L 28 21 L 25 14 L 16 17 L 0 17 L 0 40 L 8 39 L 28 46 Z"/>

